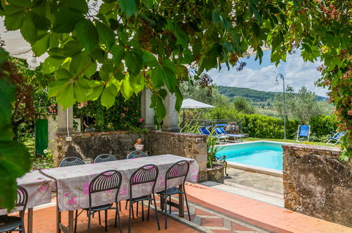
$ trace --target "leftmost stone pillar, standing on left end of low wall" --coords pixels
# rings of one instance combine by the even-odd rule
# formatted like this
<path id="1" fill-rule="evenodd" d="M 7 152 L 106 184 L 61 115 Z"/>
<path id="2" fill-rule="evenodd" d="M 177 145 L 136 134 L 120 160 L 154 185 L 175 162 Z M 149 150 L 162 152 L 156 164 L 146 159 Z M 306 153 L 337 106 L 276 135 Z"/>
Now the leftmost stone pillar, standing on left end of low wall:
<path id="1" fill-rule="evenodd" d="M 68 107 L 68 109 L 63 109 L 62 106 L 57 107 L 57 124 L 56 134 L 67 134 L 67 123 L 68 131 L 74 133 L 73 130 L 73 107 Z"/>

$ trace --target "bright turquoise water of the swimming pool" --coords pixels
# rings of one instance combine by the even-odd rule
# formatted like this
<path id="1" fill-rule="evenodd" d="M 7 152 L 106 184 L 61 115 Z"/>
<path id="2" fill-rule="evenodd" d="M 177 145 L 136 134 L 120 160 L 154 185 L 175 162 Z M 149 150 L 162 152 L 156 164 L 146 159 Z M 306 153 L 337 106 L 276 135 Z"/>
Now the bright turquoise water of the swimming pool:
<path id="1" fill-rule="evenodd" d="M 282 171 L 282 148 L 280 143 L 246 143 L 222 146 L 217 156 L 226 155 L 227 162 L 265 167 Z"/>

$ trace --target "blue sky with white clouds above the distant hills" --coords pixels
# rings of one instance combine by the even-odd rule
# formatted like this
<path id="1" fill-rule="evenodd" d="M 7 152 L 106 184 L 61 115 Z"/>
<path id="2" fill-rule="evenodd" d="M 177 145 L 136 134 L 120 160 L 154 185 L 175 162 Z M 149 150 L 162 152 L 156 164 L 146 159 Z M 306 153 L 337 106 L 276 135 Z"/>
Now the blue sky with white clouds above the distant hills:
<path id="1" fill-rule="evenodd" d="M 320 78 L 320 72 L 317 67 L 320 61 L 312 63 L 305 62 L 301 58 L 301 52 L 288 54 L 286 62 L 281 61 L 279 66 L 275 66 L 270 62 L 270 51 L 264 52 L 262 64 L 259 59 L 255 61 L 255 55 L 250 59 L 241 59 L 247 65 L 242 71 L 236 71 L 236 68 L 227 70 L 225 64 L 221 65 L 221 71 L 213 68 L 207 73 L 217 85 L 226 85 L 238 88 L 251 88 L 255 90 L 265 90 L 273 92 L 281 92 L 283 90 L 282 80 L 279 78 L 279 85 L 274 85 L 275 77 L 278 73 L 282 73 L 285 78 L 285 85 L 293 86 L 297 92 L 303 85 L 308 90 L 315 92 L 316 95 L 327 97 L 327 90 L 314 85 L 315 81 Z"/>

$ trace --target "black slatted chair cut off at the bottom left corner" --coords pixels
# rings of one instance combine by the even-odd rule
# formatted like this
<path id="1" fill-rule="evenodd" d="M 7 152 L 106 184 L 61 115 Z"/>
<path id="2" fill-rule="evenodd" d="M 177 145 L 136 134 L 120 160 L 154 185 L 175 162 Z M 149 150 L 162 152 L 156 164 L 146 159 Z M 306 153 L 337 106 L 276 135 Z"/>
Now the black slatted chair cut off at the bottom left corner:
<path id="1" fill-rule="evenodd" d="M 18 186 L 16 207 L 21 207 L 20 217 L 1 215 L 0 216 L 0 232 L 23 232 L 25 233 L 25 223 L 23 222 L 25 216 L 25 208 L 28 203 L 28 192 L 23 186 Z"/>

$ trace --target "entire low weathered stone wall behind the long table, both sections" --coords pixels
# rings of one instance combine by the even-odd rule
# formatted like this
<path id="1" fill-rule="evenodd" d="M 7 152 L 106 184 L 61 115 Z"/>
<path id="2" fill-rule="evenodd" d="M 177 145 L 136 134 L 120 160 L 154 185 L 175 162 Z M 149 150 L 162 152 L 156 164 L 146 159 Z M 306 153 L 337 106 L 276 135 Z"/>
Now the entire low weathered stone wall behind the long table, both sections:
<path id="1" fill-rule="evenodd" d="M 168 133 L 149 131 L 147 134 L 128 133 L 126 131 L 56 134 L 54 141 L 54 166 L 57 167 L 64 157 L 75 156 L 83 160 L 94 160 L 97 155 L 111 154 L 119 160 L 134 150 L 133 145 L 142 138 L 149 155 L 172 154 L 193 158 L 200 166 L 199 181 L 207 180 L 206 136 L 190 133 Z"/>

